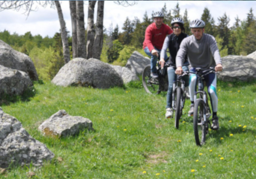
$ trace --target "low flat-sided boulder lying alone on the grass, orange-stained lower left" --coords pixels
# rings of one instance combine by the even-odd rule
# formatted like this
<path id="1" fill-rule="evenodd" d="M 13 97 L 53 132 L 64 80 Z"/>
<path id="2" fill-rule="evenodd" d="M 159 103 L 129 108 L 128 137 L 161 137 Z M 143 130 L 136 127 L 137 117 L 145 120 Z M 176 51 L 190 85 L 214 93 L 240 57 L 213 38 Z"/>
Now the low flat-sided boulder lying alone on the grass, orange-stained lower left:
<path id="1" fill-rule="evenodd" d="M 93 130 L 93 123 L 81 116 L 70 116 L 65 110 L 59 110 L 38 129 L 46 136 L 67 137 L 79 134 L 84 129 Z"/>

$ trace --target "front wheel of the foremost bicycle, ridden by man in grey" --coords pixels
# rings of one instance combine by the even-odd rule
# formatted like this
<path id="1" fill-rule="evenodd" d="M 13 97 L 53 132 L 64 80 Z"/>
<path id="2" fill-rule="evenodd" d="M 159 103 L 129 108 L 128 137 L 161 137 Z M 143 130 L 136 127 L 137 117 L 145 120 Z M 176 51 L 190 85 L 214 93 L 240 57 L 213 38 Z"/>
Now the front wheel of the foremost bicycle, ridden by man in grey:
<path id="1" fill-rule="evenodd" d="M 203 123 L 204 113 L 205 113 L 204 101 L 203 101 L 203 99 L 197 99 L 195 108 L 194 108 L 193 127 L 194 127 L 196 144 L 199 146 L 201 146 L 205 143 L 206 125 L 208 125 L 208 124 Z"/>

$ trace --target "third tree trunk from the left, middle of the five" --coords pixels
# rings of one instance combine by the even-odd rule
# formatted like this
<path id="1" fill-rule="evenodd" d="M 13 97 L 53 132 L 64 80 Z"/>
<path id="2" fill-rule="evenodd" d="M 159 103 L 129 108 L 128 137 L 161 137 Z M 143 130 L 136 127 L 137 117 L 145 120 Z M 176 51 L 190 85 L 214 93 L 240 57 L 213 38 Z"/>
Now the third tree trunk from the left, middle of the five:
<path id="1" fill-rule="evenodd" d="M 86 58 L 86 29 L 84 29 L 83 1 L 76 1 L 77 57 Z"/>

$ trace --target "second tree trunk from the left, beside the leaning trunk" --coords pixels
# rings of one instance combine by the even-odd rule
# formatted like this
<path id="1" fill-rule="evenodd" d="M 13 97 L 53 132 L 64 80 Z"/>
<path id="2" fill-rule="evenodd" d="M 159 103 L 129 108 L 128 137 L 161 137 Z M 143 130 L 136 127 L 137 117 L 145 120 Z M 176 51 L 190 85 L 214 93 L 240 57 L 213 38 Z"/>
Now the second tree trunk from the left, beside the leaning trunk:
<path id="1" fill-rule="evenodd" d="M 73 58 L 77 57 L 77 33 L 76 33 L 76 2 L 69 1 L 72 22 L 72 52 Z"/>

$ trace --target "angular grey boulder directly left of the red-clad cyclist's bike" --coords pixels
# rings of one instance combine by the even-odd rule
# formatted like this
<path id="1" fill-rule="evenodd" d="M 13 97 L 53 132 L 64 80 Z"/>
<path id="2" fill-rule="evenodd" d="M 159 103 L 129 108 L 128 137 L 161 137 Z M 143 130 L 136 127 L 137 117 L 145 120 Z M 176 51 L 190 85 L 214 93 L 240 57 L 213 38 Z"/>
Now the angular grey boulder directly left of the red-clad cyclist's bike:
<path id="1" fill-rule="evenodd" d="M 127 60 L 125 67 L 136 75 L 142 75 L 145 66 L 148 64 L 150 64 L 150 58 L 144 57 L 139 52 L 135 51 Z"/>

